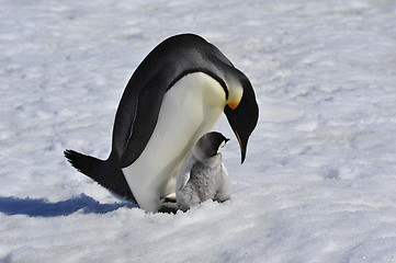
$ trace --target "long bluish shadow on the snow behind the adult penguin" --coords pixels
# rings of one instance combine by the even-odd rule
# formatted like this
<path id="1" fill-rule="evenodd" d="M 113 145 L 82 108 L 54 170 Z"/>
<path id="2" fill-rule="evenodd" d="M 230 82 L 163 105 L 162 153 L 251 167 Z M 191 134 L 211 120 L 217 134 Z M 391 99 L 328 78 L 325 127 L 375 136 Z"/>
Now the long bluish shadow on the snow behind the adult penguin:
<path id="1" fill-rule="evenodd" d="M 105 214 L 120 207 L 137 207 L 128 202 L 100 204 L 90 196 L 81 194 L 67 201 L 48 203 L 44 198 L 0 197 L 0 213 L 5 215 L 26 215 L 30 217 L 67 216 L 80 210 L 82 214 Z"/>

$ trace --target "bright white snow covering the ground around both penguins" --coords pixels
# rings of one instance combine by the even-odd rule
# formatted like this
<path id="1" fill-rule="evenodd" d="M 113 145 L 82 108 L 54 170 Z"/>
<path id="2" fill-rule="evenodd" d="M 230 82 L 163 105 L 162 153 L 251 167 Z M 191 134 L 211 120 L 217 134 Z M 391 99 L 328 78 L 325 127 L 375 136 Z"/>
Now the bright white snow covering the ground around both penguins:
<path id="1" fill-rule="evenodd" d="M 7 1 L 0 262 L 396 262 L 393 1 Z M 146 214 L 73 170 L 106 158 L 132 72 L 193 32 L 251 80 L 260 121 L 233 197 Z"/>

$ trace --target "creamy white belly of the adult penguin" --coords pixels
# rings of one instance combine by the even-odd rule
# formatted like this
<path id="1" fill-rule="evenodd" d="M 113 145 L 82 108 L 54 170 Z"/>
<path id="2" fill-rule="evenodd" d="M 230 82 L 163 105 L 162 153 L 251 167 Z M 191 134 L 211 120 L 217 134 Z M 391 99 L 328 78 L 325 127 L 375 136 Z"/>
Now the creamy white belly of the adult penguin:
<path id="1" fill-rule="evenodd" d="M 225 105 L 223 87 L 202 72 L 183 77 L 165 94 L 145 150 L 123 169 L 143 209 L 157 211 L 160 198 L 176 192 L 181 163 L 201 136 L 216 125 Z"/>

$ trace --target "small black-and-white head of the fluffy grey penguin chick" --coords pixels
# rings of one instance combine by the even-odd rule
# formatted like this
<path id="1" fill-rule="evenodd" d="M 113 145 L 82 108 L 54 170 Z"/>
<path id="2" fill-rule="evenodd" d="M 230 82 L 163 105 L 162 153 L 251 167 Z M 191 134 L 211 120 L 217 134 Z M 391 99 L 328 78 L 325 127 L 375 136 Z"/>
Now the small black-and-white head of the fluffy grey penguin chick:
<path id="1" fill-rule="evenodd" d="M 203 161 L 219 153 L 219 150 L 229 139 L 220 133 L 211 132 L 203 135 L 195 145 L 194 156 Z"/>

